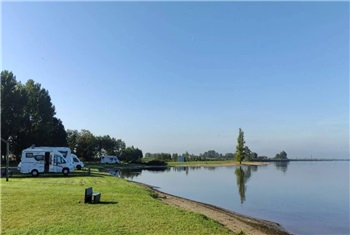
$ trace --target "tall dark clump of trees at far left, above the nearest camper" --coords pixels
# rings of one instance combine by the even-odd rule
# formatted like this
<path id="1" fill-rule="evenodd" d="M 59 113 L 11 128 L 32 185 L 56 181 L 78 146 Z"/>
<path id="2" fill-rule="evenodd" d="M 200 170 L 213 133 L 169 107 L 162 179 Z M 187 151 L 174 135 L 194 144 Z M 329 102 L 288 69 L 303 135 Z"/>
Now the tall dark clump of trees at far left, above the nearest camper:
<path id="1" fill-rule="evenodd" d="M 32 144 L 67 146 L 66 131 L 55 114 L 49 92 L 39 83 L 22 84 L 12 72 L 1 72 L 1 138 L 9 140 L 13 154 Z"/>

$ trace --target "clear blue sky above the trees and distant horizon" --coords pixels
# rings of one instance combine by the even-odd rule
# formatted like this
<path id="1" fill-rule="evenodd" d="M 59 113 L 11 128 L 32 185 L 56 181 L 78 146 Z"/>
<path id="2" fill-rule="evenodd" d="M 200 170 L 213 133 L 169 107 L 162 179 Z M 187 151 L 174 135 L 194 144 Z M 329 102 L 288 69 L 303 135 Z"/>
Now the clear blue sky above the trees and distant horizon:
<path id="1" fill-rule="evenodd" d="M 347 2 L 3 2 L 2 70 L 144 153 L 349 157 Z"/>

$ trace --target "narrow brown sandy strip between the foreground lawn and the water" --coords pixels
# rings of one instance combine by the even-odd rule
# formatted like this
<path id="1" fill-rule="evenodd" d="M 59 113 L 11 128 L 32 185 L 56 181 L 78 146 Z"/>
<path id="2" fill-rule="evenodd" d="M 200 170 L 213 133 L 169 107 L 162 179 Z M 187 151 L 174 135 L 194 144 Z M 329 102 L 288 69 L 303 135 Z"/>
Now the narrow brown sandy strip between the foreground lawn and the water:
<path id="1" fill-rule="evenodd" d="M 272 221 L 267 221 L 264 219 L 258 219 L 249 217 L 246 215 L 238 214 L 236 212 L 232 212 L 214 205 L 194 201 L 191 199 L 171 195 L 168 193 L 164 193 L 162 191 L 157 190 L 155 187 L 128 180 L 128 182 L 140 185 L 141 187 L 152 190 L 157 193 L 158 199 L 163 201 L 164 203 L 176 206 L 181 209 L 192 211 L 195 213 L 202 214 L 208 218 L 211 218 L 223 226 L 227 227 L 231 231 L 237 233 L 239 231 L 245 232 L 247 235 L 266 235 L 266 234 L 274 234 L 274 235 L 289 235 L 288 231 L 286 231 L 280 224 Z"/>

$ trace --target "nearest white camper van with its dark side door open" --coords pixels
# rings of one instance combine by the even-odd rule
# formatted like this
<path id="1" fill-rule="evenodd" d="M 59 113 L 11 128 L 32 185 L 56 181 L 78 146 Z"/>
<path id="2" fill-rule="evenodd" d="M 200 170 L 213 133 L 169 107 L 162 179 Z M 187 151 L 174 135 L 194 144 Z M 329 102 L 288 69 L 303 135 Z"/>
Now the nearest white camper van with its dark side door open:
<path id="1" fill-rule="evenodd" d="M 18 165 L 21 173 L 38 176 L 39 173 L 59 172 L 68 175 L 73 172 L 73 164 L 69 163 L 56 149 L 27 148 L 22 151 L 21 162 Z"/>

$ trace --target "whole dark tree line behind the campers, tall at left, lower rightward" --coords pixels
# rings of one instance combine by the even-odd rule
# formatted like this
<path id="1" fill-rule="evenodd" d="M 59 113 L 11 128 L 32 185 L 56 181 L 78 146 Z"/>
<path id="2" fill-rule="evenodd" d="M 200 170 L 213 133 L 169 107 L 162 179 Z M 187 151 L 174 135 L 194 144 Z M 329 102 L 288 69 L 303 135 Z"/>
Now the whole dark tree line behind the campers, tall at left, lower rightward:
<path id="1" fill-rule="evenodd" d="M 55 116 L 55 106 L 48 90 L 30 79 L 18 82 L 12 72 L 1 72 L 1 138 L 10 142 L 10 152 L 17 157 L 32 146 L 70 147 L 83 160 L 100 155 L 117 155 L 120 160 L 140 161 L 142 151 L 126 147 L 121 139 L 109 135 L 94 136 L 88 130 L 65 130 Z M 1 144 L 1 152 L 6 145 Z"/>

